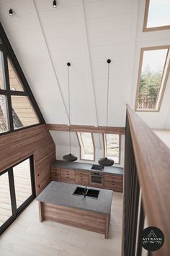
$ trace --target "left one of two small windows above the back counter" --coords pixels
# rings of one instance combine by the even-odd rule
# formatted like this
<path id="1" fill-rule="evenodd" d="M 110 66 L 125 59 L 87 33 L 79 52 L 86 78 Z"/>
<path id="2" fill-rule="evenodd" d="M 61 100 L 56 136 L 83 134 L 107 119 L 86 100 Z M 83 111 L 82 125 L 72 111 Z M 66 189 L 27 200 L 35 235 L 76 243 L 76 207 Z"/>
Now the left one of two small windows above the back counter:
<path id="1" fill-rule="evenodd" d="M 94 141 L 90 132 L 78 132 L 81 159 L 94 161 Z"/>

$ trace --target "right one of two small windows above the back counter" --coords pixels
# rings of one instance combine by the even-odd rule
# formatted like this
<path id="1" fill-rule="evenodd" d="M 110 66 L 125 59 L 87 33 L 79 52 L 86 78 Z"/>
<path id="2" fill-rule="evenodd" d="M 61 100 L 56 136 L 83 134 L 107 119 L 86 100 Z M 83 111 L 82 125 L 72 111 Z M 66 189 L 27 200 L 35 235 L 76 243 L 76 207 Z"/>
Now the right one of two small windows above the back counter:
<path id="1" fill-rule="evenodd" d="M 104 133 L 104 157 L 120 163 L 120 135 Z"/>

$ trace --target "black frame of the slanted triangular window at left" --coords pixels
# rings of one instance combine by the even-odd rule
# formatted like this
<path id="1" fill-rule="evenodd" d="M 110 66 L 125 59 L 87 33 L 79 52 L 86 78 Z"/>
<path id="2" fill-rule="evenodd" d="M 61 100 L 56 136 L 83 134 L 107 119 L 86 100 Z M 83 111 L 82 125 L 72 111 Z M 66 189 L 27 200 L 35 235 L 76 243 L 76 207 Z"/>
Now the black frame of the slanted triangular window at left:
<path id="1" fill-rule="evenodd" d="M 45 119 L 43 118 L 40 108 L 38 107 L 37 102 L 35 101 L 34 95 L 30 90 L 30 86 L 28 85 L 28 82 L 24 77 L 22 68 L 20 67 L 19 62 L 17 61 L 17 57 L 14 54 L 12 46 L 9 43 L 9 40 L 6 36 L 6 33 L 4 32 L 4 28 L 2 27 L 1 22 L 0 22 L 0 51 L 2 51 L 3 53 L 3 62 L 4 62 L 3 64 L 4 64 L 4 74 L 5 74 L 5 77 L 4 77 L 5 88 L 0 89 L 0 94 L 6 96 L 6 105 L 8 109 L 8 115 L 9 115 L 9 120 L 8 120 L 9 130 L 6 132 L 1 132 L 0 136 L 6 135 L 11 132 L 18 132 L 19 130 L 22 130 L 22 129 L 35 127 L 40 124 L 45 124 Z M 9 69 L 8 69 L 8 62 L 7 62 L 8 59 L 11 62 L 12 66 L 14 67 L 14 71 L 17 73 L 17 76 L 19 77 L 19 81 L 22 84 L 23 91 L 10 90 Z M 37 119 L 39 120 L 38 124 L 33 124 L 30 126 L 14 129 L 13 117 L 12 117 L 12 99 L 11 99 L 12 95 L 26 96 L 28 98 L 33 110 L 35 111 Z"/>

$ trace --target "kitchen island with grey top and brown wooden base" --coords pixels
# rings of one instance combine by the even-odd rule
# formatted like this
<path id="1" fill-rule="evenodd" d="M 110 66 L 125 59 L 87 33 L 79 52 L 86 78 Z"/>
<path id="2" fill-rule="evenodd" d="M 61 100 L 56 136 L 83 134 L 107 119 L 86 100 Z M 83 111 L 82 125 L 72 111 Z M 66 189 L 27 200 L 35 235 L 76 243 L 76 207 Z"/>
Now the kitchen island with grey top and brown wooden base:
<path id="1" fill-rule="evenodd" d="M 40 221 L 56 221 L 95 231 L 108 238 L 113 192 L 107 189 L 87 187 L 86 189 L 89 190 L 98 190 L 98 198 L 73 195 L 77 187 L 85 189 L 84 186 L 76 184 L 50 182 L 37 197 Z"/>

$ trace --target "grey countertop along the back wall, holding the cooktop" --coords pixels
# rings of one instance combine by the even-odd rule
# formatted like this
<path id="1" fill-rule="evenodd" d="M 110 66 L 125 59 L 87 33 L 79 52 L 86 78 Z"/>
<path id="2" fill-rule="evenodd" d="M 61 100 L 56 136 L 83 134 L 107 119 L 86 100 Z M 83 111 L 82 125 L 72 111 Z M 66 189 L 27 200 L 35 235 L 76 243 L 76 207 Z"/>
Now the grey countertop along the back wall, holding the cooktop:
<path id="1" fill-rule="evenodd" d="M 92 165 L 95 163 L 79 163 L 79 162 L 65 162 L 61 160 L 56 160 L 51 163 L 51 168 L 68 168 L 68 169 L 76 169 L 81 171 L 96 171 L 99 170 L 91 170 Z M 105 166 L 103 171 L 99 171 L 104 174 L 117 174 L 123 175 L 123 168 L 117 166 Z"/>

